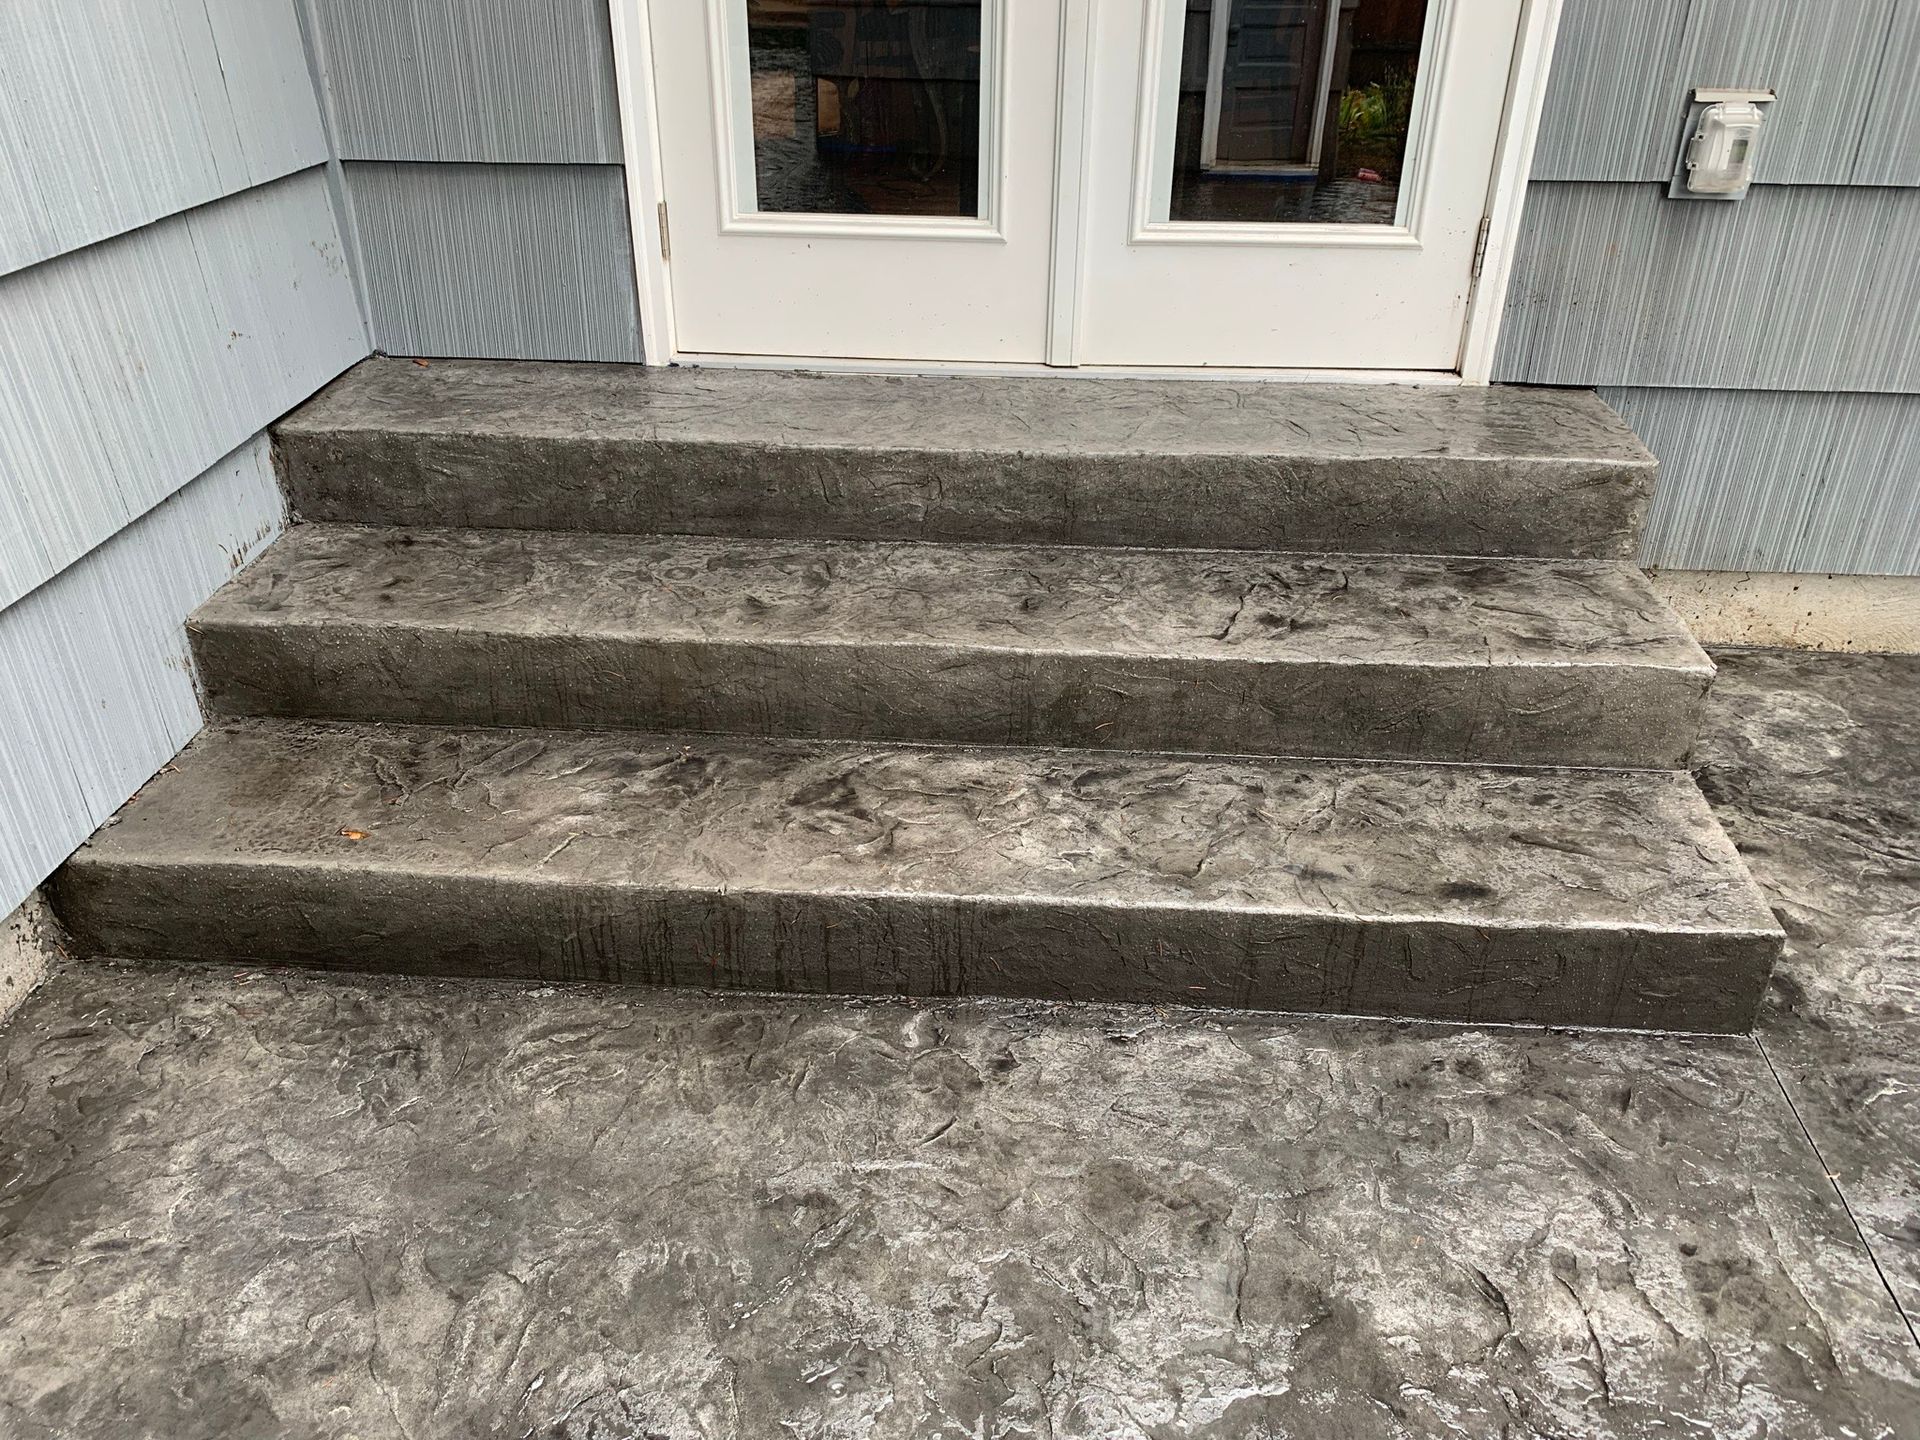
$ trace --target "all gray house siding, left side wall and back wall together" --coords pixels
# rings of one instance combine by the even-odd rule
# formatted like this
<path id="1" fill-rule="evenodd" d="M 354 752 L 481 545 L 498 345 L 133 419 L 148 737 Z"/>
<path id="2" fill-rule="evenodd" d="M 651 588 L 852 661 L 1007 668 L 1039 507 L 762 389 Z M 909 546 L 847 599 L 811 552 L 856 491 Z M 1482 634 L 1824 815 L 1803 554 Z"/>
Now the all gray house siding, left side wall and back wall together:
<path id="1" fill-rule="evenodd" d="M 1920 574 L 1916 69 L 1920 0 L 1567 0 L 1498 372 L 1663 455 L 1649 563 Z M 1738 205 L 1663 198 L 1693 84 L 1780 90 Z M 607 0 L 13 0 L 0 154 L 6 914 L 200 726 L 273 419 L 641 342 Z"/>

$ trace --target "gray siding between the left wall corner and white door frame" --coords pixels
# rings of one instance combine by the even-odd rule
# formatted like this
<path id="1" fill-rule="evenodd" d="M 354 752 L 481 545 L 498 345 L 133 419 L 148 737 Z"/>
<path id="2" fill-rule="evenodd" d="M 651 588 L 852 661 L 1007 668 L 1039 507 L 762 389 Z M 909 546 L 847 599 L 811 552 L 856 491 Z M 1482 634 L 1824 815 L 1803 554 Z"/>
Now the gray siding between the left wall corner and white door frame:
<path id="1" fill-rule="evenodd" d="M 303 0 L 374 344 L 637 361 L 605 0 Z"/>

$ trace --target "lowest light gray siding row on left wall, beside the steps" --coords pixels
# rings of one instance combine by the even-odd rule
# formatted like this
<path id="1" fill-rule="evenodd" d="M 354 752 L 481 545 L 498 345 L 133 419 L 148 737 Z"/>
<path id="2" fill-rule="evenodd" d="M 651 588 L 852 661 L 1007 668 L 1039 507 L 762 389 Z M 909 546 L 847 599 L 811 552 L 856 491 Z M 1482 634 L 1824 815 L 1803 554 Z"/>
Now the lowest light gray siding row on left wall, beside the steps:
<path id="1" fill-rule="evenodd" d="M 278 530 L 255 436 L 0 611 L 0 914 L 200 730 L 184 620 Z"/>

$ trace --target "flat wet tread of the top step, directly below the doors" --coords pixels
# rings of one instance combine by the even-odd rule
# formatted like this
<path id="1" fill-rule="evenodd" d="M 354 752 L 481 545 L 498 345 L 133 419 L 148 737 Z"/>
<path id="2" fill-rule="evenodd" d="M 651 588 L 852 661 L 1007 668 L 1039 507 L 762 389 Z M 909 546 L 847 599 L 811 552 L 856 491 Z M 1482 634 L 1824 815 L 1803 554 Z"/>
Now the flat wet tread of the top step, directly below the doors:
<path id="1" fill-rule="evenodd" d="M 415 365 L 384 357 L 349 371 L 278 432 L 801 451 L 1655 465 L 1632 428 L 1586 390 Z"/>

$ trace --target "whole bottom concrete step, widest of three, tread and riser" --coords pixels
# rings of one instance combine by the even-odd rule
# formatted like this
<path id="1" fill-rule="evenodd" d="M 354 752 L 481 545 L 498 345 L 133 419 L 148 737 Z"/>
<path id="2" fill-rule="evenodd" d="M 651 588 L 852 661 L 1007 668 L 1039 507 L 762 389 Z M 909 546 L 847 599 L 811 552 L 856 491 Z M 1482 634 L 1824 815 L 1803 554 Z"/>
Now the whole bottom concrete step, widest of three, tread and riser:
<path id="1" fill-rule="evenodd" d="M 236 720 L 60 874 L 86 950 L 1740 1031 L 1684 774 Z"/>

